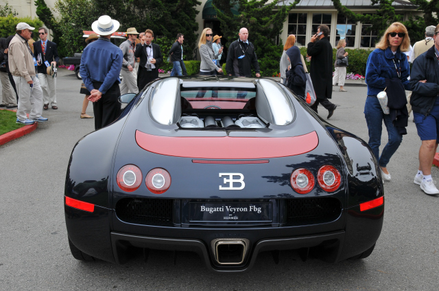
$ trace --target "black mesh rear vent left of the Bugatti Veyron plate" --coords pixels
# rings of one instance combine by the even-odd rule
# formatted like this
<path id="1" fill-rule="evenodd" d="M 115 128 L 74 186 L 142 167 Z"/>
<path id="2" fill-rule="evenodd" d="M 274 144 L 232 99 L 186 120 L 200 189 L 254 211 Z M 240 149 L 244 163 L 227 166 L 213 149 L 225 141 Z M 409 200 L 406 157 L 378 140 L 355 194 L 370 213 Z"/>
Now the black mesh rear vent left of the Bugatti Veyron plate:
<path id="1" fill-rule="evenodd" d="M 174 226 L 171 199 L 124 198 L 116 203 L 117 217 L 138 225 Z"/>

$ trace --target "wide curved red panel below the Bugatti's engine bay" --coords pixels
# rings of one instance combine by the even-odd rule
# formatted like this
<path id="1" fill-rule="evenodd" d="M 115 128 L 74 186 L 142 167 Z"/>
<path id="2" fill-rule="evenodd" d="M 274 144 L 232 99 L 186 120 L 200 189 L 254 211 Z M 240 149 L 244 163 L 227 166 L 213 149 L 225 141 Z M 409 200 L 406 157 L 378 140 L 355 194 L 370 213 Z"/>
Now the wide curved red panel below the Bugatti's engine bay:
<path id="1" fill-rule="evenodd" d="M 303 136 L 285 138 L 241 138 L 241 137 L 169 137 L 153 136 L 136 131 L 139 147 L 174 157 L 200 159 L 263 159 L 301 155 L 316 149 L 316 131 Z"/>

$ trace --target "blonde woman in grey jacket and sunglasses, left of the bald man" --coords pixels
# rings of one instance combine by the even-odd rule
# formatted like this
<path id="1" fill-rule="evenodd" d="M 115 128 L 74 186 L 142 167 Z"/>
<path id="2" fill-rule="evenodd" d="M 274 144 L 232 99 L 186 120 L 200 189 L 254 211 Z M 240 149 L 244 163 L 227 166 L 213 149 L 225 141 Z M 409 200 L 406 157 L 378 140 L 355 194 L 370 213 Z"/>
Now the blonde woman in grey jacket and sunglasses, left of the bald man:
<path id="1" fill-rule="evenodd" d="M 198 49 L 201 56 L 200 75 L 217 75 L 222 73 L 222 68 L 219 68 L 213 60 L 217 58 L 212 49 L 212 29 L 204 28 L 201 33 L 200 41 L 198 42 Z"/>

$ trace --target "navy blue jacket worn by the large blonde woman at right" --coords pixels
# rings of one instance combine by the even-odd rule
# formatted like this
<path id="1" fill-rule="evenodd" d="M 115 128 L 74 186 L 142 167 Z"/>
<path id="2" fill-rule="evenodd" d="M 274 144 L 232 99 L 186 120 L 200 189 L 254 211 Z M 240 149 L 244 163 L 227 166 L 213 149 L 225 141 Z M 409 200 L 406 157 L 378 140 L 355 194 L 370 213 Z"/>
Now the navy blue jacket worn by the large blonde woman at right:
<path id="1" fill-rule="evenodd" d="M 411 90 L 407 78 L 410 75 L 409 62 L 404 53 L 398 49 L 393 55 L 388 47 L 385 50 L 375 49 L 370 53 L 366 63 L 366 84 L 368 84 L 368 95 L 377 96 L 385 88 L 385 79 L 398 78 L 396 68 L 401 68 L 401 82 L 405 90 Z"/>

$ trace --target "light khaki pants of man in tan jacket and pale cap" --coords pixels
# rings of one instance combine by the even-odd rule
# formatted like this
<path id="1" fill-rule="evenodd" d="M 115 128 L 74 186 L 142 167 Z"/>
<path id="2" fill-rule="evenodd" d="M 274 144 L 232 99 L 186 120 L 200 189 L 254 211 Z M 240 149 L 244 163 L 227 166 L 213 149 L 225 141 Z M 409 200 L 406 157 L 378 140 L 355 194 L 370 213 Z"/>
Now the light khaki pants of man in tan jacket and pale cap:
<path id="1" fill-rule="evenodd" d="M 19 93 L 19 107 L 16 110 L 16 118 L 25 121 L 26 114 L 29 119 L 38 119 L 43 112 L 43 90 L 37 77 L 32 77 L 32 88 L 23 77 L 14 76 L 16 90 Z"/>

